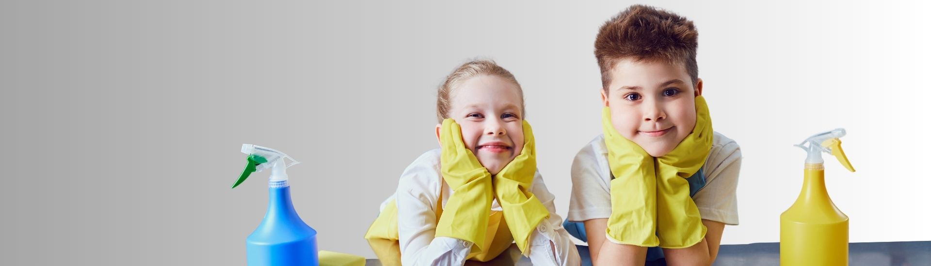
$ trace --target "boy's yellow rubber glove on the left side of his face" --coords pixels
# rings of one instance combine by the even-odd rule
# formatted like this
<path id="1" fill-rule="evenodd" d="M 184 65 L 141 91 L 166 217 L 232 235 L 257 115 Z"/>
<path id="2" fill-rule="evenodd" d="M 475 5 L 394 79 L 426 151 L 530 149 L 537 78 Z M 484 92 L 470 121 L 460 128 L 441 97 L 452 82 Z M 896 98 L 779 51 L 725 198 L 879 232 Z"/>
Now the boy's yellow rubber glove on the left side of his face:
<path id="1" fill-rule="evenodd" d="M 617 133 L 611 125 L 608 107 L 601 110 L 601 128 L 608 147 L 608 165 L 614 175 L 611 216 L 605 235 L 614 243 L 657 246 L 654 158 Z"/>

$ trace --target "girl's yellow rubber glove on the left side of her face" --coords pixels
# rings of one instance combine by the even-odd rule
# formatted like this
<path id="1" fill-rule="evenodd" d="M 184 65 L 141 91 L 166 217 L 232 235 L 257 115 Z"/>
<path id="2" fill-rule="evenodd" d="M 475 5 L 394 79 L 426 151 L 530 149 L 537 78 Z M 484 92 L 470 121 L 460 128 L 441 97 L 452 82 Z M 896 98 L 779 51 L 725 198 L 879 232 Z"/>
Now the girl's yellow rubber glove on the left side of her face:
<path id="1" fill-rule="evenodd" d="M 481 250 L 492 208 L 492 174 L 466 149 L 459 124 L 452 118 L 443 120 L 439 142 L 440 171 L 454 193 L 443 207 L 436 236 L 465 240 L 474 244 L 473 251 Z"/>

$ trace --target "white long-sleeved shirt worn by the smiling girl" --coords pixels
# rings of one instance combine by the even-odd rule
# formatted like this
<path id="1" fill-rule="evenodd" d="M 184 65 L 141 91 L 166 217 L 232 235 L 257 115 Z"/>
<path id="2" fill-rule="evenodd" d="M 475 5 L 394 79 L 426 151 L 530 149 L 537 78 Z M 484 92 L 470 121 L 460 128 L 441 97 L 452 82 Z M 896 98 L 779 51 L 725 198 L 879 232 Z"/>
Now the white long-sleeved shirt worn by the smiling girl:
<path id="1" fill-rule="evenodd" d="M 439 169 L 439 149 L 424 153 L 411 163 L 398 180 L 398 191 L 385 200 L 382 209 L 392 199 L 398 206 L 398 244 L 403 265 L 463 265 L 472 243 L 451 237 L 434 237 L 437 228 L 436 205 L 442 190 L 442 206 L 455 193 L 443 181 Z M 562 228 L 556 214 L 553 194 L 537 171 L 531 193 L 546 206 L 549 218 L 543 219 L 530 236 L 530 257 L 533 265 L 579 265 L 578 250 L 569 233 Z M 492 210 L 501 210 L 492 200 Z M 491 240 L 489 240 L 491 241 Z M 550 247 L 555 246 L 555 250 Z M 555 254 L 554 254 L 555 251 Z M 555 257 L 554 257 L 555 255 Z"/>

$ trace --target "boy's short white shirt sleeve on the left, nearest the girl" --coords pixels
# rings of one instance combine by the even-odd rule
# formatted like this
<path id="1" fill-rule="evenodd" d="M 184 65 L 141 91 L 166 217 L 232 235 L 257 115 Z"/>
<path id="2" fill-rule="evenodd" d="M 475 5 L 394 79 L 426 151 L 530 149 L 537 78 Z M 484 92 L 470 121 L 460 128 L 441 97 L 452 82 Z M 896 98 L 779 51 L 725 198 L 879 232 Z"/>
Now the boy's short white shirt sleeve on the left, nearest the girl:
<path id="1" fill-rule="evenodd" d="M 575 155 L 572 166 L 573 192 L 569 198 L 569 220 L 611 216 L 611 167 L 604 139 L 595 138 Z"/>

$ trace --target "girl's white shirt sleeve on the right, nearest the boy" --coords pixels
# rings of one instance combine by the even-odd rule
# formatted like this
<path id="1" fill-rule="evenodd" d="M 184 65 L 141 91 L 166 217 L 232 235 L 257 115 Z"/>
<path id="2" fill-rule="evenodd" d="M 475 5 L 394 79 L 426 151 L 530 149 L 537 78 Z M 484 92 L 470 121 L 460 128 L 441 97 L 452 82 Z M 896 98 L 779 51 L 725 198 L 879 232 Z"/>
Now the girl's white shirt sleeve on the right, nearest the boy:
<path id="1" fill-rule="evenodd" d="M 549 211 L 549 217 L 540 221 L 531 234 L 530 257 L 533 265 L 579 265 L 578 249 L 569 232 L 562 228 L 562 218 L 556 214 L 555 196 L 546 189 L 543 177 L 537 171 L 533 176 L 533 195 Z"/>

